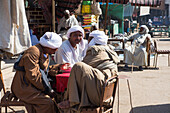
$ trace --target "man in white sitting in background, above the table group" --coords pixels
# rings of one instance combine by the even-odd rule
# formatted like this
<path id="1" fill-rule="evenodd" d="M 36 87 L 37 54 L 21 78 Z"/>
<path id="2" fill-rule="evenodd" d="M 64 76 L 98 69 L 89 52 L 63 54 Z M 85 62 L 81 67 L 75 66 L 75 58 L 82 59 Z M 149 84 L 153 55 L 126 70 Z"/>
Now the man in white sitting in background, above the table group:
<path id="1" fill-rule="evenodd" d="M 78 25 L 77 19 L 75 18 L 74 15 L 70 15 L 69 10 L 65 10 L 64 17 L 61 18 L 58 24 L 57 33 L 61 34 L 63 40 L 65 40 L 67 39 L 67 37 L 65 36 L 67 30 L 75 25 Z"/>

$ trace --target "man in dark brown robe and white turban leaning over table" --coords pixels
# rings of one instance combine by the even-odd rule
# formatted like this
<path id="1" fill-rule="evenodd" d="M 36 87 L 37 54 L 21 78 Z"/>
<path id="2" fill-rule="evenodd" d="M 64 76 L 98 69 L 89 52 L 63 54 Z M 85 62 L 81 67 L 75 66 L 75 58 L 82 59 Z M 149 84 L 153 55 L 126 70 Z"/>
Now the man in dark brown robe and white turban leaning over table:
<path id="1" fill-rule="evenodd" d="M 53 90 L 45 91 L 40 69 L 47 71 L 49 55 L 54 54 L 61 43 L 59 35 L 46 32 L 40 38 L 39 44 L 24 51 L 19 61 L 18 66 L 24 69 L 16 70 L 11 90 L 25 103 L 28 113 L 56 113 L 54 102 L 49 97 L 55 96 L 55 93 Z M 56 64 L 50 68 L 59 67 L 62 68 L 63 65 Z"/>

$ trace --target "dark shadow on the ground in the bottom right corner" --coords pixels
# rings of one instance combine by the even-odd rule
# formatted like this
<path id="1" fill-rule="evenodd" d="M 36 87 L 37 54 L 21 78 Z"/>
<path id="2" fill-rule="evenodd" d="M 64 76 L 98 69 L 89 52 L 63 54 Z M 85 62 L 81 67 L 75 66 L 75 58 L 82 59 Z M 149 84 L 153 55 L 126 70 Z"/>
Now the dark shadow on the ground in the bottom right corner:
<path id="1" fill-rule="evenodd" d="M 170 113 L 170 104 L 135 107 L 129 113 Z"/>

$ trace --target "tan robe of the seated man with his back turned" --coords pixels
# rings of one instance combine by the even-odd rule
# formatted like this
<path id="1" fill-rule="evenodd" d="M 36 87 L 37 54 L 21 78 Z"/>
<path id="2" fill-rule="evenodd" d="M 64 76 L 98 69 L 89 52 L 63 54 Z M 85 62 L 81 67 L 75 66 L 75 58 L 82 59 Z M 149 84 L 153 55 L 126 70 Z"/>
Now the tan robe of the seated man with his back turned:
<path id="1" fill-rule="evenodd" d="M 99 106 L 105 78 L 116 75 L 119 61 L 117 54 L 112 51 L 110 51 L 112 55 L 110 58 L 105 47 L 96 46 L 88 49 L 83 62 L 73 66 L 65 93 L 65 99 L 70 101 L 71 108 L 65 109 L 64 112 L 80 112 L 83 106 Z M 112 68 L 97 68 L 107 62 L 113 64 Z"/>

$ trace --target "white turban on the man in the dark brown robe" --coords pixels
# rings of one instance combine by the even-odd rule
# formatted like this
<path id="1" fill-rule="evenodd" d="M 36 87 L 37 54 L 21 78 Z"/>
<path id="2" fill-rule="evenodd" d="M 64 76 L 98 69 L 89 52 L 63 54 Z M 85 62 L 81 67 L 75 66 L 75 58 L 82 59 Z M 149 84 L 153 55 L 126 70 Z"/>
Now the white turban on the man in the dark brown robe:
<path id="1" fill-rule="evenodd" d="M 62 44 L 61 37 L 54 33 L 54 32 L 46 32 L 41 38 L 40 38 L 40 44 L 44 47 L 49 47 L 51 49 L 57 49 Z"/>

